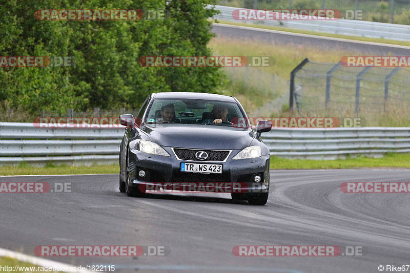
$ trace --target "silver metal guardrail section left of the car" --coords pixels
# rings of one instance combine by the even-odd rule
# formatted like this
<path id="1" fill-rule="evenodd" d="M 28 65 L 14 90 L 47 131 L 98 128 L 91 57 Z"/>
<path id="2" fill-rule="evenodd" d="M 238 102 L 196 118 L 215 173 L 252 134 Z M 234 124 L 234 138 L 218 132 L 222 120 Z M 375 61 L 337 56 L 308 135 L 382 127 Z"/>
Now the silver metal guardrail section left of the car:
<path id="1" fill-rule="evenodd" d="M 0 164 L 116 164 L 124 136 L 124 127 L 117 126 L 50 129 L 33 123 L 0 122 Z"/>

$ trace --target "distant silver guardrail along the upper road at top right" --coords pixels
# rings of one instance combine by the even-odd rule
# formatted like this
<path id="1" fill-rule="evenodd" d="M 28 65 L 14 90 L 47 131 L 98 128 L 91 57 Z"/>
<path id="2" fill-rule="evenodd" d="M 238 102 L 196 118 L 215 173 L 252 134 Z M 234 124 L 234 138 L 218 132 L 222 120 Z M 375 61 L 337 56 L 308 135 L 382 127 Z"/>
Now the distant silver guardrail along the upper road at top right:
<path id="1" fill-rule="evenodd" d="M 208 5 L 207 8 L 211 6 Z M 410 41 L 410 26 L 368 22 L 361 20 L 236 20 L 232 17 L 235 7 L 215 6 L 220 11 L 214 18 L 233 21 L 236 23 L 261 24 L 266 26 L 280 26 L 317 32 L 343 35 L 353 35 L 371 38 Z"/>

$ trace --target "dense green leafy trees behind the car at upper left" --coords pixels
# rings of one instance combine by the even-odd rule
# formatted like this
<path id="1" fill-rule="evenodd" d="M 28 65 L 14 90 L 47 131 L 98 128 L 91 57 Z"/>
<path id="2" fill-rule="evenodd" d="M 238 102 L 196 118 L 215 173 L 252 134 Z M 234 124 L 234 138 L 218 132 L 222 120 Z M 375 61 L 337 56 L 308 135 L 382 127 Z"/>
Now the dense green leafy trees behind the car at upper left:
<path id="1" fill-rule="evenodd" d="M 136 109 L 151 92 L 213 92 L 217 68 L 147 68 L 141 56 L 211 55 L 204 9 L 213 0 L 9 0 L 0 6 L 2 56 L 73 56 L 74 67 L 1 68 L 0 106 L 66 112 Z M 37 20 L 39 9 L 165 10 L 163 20 Z"/>

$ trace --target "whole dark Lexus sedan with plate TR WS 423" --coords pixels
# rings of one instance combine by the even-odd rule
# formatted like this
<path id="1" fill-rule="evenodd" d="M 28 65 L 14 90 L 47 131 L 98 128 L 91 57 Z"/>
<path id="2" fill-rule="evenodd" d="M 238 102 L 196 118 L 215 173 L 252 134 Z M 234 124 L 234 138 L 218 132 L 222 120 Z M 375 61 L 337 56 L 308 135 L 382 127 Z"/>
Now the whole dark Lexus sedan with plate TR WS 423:
<path id="1" fill-rule="evenodd" d="M 137 117 L 120 116 L 119 190 L 229 192 L 264 205 L 269 195 L 269 149 L 260 139 L 270 121 L 253 129 L 234 97 L 153 93 Z M 170 191 L 172 192 L 172 191 Z"/>

